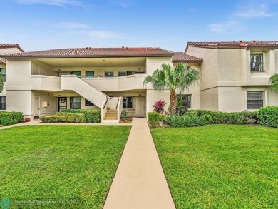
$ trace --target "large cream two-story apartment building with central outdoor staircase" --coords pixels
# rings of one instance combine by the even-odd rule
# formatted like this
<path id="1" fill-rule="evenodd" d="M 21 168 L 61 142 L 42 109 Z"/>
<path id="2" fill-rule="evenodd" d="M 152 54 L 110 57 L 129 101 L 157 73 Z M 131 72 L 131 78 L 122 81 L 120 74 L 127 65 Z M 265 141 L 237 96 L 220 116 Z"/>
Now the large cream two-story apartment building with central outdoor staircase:
<path id="1" fill-rule="evenodd" d="M 82 48 L 13 53 L 6 58 L 6 110 L 39 118 L 63 108 L 100 108 L 102 120 L 120 112 L 145 116 L 169 92 L 144 86 L 163 63 L 183 62 L 200 71 L 184 95 L 192 109 L 249 111 L 278 105 L 269 77 L 278 73 L 278 42 L 189 42 L 185 53 L 160 48 Z M 178 92 L 180 93 L 180 92 Z M 108 109 L 115 118 L 105 118 Z"/>

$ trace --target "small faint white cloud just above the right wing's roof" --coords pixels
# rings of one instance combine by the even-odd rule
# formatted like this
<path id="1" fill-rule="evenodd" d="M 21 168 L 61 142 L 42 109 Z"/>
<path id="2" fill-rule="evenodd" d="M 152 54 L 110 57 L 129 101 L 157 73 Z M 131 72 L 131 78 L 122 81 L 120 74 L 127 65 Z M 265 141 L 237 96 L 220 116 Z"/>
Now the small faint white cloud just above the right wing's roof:
<path id="1" fill-rule="evenodd" d="M 215 33 L 237 33 L 245 30 L 244 26 L 238 24 L 236 21 L 227 21 L 223 23 L 210 24 L 208 27 L 210 31 Z"/>

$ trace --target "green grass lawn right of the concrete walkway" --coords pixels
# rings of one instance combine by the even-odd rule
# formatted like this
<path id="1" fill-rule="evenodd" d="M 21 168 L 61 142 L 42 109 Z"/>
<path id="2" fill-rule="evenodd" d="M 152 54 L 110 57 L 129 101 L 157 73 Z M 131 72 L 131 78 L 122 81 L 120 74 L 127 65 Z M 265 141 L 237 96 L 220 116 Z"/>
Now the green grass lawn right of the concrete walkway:
<path id="1" fill-rule="evenodd" d="M 152 130 L 177 208 L 278 208 L 278 129 Z"/>

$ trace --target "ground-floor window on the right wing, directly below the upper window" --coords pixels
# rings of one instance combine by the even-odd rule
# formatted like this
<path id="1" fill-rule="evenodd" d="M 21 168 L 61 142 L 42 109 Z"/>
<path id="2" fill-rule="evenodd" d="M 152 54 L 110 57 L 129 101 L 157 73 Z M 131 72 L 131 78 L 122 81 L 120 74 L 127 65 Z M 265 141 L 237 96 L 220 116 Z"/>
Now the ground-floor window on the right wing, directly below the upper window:
<path id="1" fill-rule="evenodd" d="M 264 106 L 264 91 L 247 91 L 247 110 L 257 110 Z"/>

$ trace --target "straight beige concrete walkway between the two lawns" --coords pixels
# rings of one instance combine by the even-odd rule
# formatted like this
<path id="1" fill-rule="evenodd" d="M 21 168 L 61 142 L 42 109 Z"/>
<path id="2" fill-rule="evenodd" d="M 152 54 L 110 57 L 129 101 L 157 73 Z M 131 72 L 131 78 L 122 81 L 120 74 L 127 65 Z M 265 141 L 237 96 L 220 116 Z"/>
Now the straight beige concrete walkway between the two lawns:
<path id="1" fill-rule="evenodd" d="M 133 118 L 104 209 L 175 208 L 145 118 Z"/>

